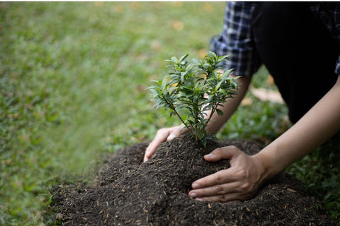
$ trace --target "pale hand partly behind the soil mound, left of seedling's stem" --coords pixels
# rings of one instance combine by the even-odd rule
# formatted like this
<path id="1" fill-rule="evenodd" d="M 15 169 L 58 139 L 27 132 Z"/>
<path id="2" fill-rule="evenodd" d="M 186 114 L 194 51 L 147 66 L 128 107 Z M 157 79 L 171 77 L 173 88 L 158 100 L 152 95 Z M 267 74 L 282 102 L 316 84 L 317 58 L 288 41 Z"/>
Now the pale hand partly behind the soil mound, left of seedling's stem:
<path id="1" fill-rule="evenodd" d="M 161 143 L 163 143 L 164 141 L 171 141 L 173 138 L 181 136 L 183 133 L 186 133 L 187 131 L 188 129 L 183 127 L 183 125 L 159 129 L 154 139 L 147 146 L 147 150 L 145 150 L 144 162 L 149 160 L 149 158 L 154 154 L 157 147 Z"/>

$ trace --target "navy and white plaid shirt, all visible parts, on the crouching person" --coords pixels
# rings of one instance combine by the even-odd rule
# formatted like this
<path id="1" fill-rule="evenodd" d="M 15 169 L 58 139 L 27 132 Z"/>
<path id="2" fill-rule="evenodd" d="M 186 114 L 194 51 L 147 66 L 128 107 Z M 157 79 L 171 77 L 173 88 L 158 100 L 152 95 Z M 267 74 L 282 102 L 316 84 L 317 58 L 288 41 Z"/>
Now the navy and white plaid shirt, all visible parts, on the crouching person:
<path id="1" fill-rule="evenodd" d="M 255 73 L 261 60 L 255 51 L 251 38 L 251 13 L 256 2 L 227 2 L 225 22 L 221 35 L 212 39 L 210 50 L 218 55 L 229 55 L 225 61 L 226 69 L 234 69 L 237 76 L 251 76 Z M 322 20 L 340 43 L 340 5 L 336 2 L 312 2 L 310 10 Z M 335 73 L 340 74 L 340 56 L 334 66 Z"/>

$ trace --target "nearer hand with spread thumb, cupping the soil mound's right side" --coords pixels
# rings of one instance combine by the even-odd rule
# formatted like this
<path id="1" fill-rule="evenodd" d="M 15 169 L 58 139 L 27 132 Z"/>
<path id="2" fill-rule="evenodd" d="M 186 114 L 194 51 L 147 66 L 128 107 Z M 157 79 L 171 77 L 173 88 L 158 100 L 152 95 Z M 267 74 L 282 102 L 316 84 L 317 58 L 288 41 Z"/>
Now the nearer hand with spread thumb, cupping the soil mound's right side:
<path id="1" fill-rule="evenodd" d="M 217 148 L 204 158 L 210 162 L 229 159 L 230 167 L 193 182 L 188 196 L 199 201 L 244 201 L 256 194 L 264 180 L 261 162 L 234 146 Z"/>

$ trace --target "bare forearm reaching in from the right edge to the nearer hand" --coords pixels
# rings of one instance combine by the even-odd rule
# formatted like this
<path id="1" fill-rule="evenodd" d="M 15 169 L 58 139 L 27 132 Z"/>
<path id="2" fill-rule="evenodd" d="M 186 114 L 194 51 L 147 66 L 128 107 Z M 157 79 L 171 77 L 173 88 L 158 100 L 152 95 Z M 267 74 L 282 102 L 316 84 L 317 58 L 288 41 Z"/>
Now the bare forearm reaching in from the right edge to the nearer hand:
<path id="1" fill-rule="evenodd" d="M 254 157 L 265 168 L 263 177 L 273 177 L 317 148 L 340 130 L 340 79 L 288 131 Z"/>

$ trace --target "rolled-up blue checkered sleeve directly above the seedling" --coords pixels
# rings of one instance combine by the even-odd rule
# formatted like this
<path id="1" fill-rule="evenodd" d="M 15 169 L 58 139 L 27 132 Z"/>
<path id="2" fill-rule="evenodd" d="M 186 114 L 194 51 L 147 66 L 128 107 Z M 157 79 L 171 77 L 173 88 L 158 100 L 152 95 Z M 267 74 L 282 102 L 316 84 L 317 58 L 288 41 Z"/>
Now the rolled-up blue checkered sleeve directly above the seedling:
<path id="1" fill-rule="evenodd" d="M 217 55 L 229 55 L 225 69 L 234 69 L 237 76 L 251 76 L 261 64 L 251 39 L 251 12 L 254 2 L 227 2 L 225 20 L 220 35 L 210 43 Z"/>

